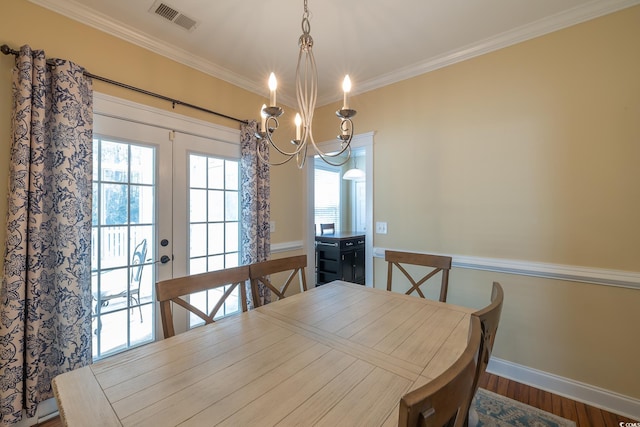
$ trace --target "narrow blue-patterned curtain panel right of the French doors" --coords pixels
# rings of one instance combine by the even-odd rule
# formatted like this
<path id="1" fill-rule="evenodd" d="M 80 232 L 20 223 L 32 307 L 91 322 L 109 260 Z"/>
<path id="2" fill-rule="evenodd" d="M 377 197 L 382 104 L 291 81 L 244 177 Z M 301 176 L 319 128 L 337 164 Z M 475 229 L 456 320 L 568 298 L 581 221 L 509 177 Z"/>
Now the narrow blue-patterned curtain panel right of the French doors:
<path id="1" fill-rule="evenodd" d="M 269 165 L 261 162 L 256 153 L 256 130 L 255 120 L 240 126 L 242 264 L 265 261 L 271 255 Z M 268 153 L 266 155 L 268 156 Z M 262 283 L 259 286 L 261 301 L 263 304 L 270 303 L 271 291 Z M 251 304 L 251 301 L 249 303 Z"/>

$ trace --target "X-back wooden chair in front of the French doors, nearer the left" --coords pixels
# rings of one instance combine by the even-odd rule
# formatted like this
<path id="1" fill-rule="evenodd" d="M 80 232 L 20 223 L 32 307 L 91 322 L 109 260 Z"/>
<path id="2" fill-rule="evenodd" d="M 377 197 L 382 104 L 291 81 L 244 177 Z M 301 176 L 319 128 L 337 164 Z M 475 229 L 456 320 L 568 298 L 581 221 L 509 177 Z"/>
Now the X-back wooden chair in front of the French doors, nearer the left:
<path id="1" fill-rule="evenodd" d="M 247 291 L 245 286 L 247 280 L 249 280 L 249 266 L 243 265 L 157 282 L 156 298 L 160 303 L 160 316 L 162 318 L 164 337 L 169 338 L 175 335 L 173 313 L 171 310 L 172 302 L 197 315 L 204 320 L 205 324 L 209 324 L 215 321 L 215 316 L 220 308 L 231 296 L 233 291 L 239 287 L 242 311 L 247 311 Z M 222 295 L 208 314 L 181 298 L 196 292 L 218 288 L 223 288 Z"/>

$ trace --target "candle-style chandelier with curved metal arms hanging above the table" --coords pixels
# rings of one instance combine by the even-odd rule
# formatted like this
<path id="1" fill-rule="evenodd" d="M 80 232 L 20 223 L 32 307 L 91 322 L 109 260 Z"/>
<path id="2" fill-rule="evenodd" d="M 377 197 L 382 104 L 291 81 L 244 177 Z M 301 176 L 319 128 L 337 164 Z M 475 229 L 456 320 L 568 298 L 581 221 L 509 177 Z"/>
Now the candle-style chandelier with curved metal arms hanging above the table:
<path id="1" fill-rule="evenodd" d="M 296 113 L 295 117 L 296 136 L 295 139 L 291 140 L 292 148 L 283 149 L 272 139 L 274 132 L 278 129 L 278 117 L 284 112 L 281 107 L 276 105 L 277 81 L 273 73 L 269 76 L 269 106 L 263 105 L 260 111 L 260 130 L 256 132 L 257 152 L 260 160 L 270 165 L 282 165 L 295 157 L 298 167 L 302 168 L 307 158 L 309 143 L 313 145 L 313 149 L 320 158 L 330 165 L 342 166 L 351 157 L 351 139 L 353 138 L 353 122 L 351 119 L 356 115 L 356 111 L 349 108 L 348 94 L 351 90 L 349 75 L 345 76 L 342 83 L 342 90 L 344 91 L 342 108 L 336 111 L 336 115 L 340 119 L 340 133 L 337 136 L 338 141 L 340 141 L 340 148 L 334 152 L 324 152 L 318 148 L 313 139 L 312 123 L 318 95 L 318 70 L 313 57 L 313 38 L 309 34 L 310 31 L 309 9 L 307 0 L 304 0 L 302 35 L 298 40 L 300 53 L 298 54 L 298 66 L 296 67 L 296 98 L 298 100 L 299 113 Z M 273 147 L 284 156 L 284 160 L 271 162 L 266 154 L 268 147 Z"/>

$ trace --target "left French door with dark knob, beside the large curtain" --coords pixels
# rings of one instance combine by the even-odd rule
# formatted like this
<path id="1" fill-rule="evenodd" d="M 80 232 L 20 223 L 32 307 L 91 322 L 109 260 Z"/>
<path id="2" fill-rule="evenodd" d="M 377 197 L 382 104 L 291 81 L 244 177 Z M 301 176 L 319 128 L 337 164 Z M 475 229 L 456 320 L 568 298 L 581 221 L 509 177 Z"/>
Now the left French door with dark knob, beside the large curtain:
<path id="1" fill-rule="evenodd" d="M 171 145 L 166 130 L 94 117 L 91 235 L 93 358 L 155 339 L 154 283 L 171 245 Z M 166 215 L 168 213 L 169 215 Z M 161 240 L 162 244 L 158 242 Z"/>

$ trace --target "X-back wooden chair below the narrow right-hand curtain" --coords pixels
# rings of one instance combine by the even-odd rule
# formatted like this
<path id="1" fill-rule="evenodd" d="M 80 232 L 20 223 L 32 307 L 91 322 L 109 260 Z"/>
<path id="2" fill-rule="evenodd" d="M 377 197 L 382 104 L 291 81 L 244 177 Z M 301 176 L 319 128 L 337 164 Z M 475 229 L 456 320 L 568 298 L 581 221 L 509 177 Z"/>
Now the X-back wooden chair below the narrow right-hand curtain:
<path id="1" fill-rule="evenodd" d="M 273 259 L 269 261 L 257 262 L 249 265 L 249 276 L 251 278 L 251 297 L 254 307 L 260 307 L 260 294 L 258 286 L 262 283 L 272 293 L 282 299 L 289 285 L 293 282 L 296 275 L 300 280 L 300 292 L 307 290 L 307 279 L 305 276 L 305 268 L 307 267 L 307 256 L 297 255 L 287 258 Z M 277 286 L 271 280 L 271 275 L 276 273 L 290 272 L 287 280 L 282 286 Z"/>

